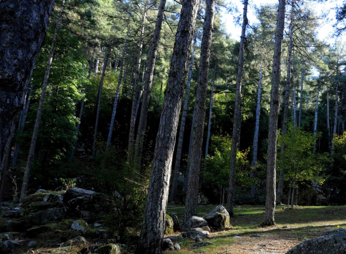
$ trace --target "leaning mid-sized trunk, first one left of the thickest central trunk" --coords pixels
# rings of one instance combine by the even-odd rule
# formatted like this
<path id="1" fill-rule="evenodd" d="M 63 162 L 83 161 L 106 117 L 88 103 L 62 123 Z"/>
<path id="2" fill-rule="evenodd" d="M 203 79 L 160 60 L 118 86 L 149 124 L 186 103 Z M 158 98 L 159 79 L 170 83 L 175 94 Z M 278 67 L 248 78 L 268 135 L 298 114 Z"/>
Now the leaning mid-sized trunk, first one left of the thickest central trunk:
<path id="1" fill-rule="evenodd" d="M 139 124 L 138 124 L 138 130 L 136 135 L 136 144 L 135 144 L 135 159 L 136 159 L 137 168 L 140 168 L 140 162 L 142 158 L 143 141 L 144 141 L 145 128 L 147 127 L 151 86 L 153 84 L 155 60 L 156 60 L 158 43 L 160 40 L 163 12 L 165 11 L 165 5 L 166 5 L 166 0 L 161 0 L 160 5 L 158 7 L 156 25 L 155 25 L 154 35 L 153 35 L 153 44 L 148 54 L 148 65 L 147 65 L 146 73 L 144 75 L 145 77 L 144 83 L 143 83 L 144 94 L 142 99 L 142 107 L 140 111 Z"/>

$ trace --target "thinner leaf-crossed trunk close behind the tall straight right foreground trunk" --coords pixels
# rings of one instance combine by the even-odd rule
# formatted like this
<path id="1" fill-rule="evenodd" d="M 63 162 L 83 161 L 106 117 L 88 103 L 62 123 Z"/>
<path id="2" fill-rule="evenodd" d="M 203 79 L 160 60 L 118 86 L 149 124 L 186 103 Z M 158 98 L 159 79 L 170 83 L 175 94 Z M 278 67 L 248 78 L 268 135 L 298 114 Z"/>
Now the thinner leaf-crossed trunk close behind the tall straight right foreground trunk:
<path id="1" fill-rule="evenodd" d="M 286 135 L 286 133 L 287 133 L 287 121 L 288 121 L 288 110 L 289 110 L 289 89 L 290 89 L 290 82 L 291 82 L 290 77 L 291 77 L 292 53 L 293 53 L 293 23 L 294 23 L 293 22 L 294 21 L 293 12 L 294 12 L 294 1 L 292 1 L 292 9 L 291 9 L 291 14 L 290 14 L 287 77 L 286 77 L 285 94 L 284 94 L 284 99 L 283 99 L 283 107 L 284 108 L 283 108 L 281 135 Z M 282 156 L 285 156 L 284 150 L 285 150 L 285 146 L 282 146 L 281 147 Z M 276 197 L 276 203 L 277 204 L 282 203 L 284 175 L 285 175 L 285 172 L 283 169 L 281 169 L 280 170 L 279 183 L 278 183 L 278 192 L 277 192 L 277 197 Z"/>

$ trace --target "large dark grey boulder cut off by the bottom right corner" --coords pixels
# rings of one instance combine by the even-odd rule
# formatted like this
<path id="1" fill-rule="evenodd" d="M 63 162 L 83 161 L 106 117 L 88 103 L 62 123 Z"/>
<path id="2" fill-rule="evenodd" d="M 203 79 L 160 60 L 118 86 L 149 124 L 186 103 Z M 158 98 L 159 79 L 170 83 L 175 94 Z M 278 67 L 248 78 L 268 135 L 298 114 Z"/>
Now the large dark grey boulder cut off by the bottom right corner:
<path id="1" fill-rule="evenodd" d="M 304 241 L 286 254 L 339 254 L 346 253 L 346 229 L 325 232 L 322 236 Z"/>

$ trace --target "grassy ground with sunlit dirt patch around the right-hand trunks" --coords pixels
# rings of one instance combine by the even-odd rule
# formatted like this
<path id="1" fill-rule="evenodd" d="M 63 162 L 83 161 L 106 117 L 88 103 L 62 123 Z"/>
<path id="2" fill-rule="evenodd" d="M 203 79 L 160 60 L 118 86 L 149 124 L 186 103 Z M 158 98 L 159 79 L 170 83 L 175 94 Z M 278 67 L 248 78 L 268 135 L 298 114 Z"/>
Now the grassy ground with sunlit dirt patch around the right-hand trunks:
<path id="1" fill-rule="evenodd" d="M 203 217 L 215 205 L 198 206 L 198 216 Z M 168 212 L 175 212 L 180 219 L 184 206 L 169 205 Z M 295 245 L 319 237 L 322 233 L 346 228 L 346 206 L 298 206 L 294 209 L 285 205 L 277 206 L 277 225 L 262 227 L 264 206 L 238 206 L 230 218 L 230 228 L 210 234 L 207 240 L 213 245 L 191 249 L 194 240 L 180 242 L 181 254 L 245 254 L 245 253 L 286 253 Z M 176 232 L 174 235 L 178 235 Z M 256 235 L 256 237 L 254 236 Z M 259 237 L 260 236 L 260 237 Z M 169 251 L 167 251 L 168 253 Z"/>

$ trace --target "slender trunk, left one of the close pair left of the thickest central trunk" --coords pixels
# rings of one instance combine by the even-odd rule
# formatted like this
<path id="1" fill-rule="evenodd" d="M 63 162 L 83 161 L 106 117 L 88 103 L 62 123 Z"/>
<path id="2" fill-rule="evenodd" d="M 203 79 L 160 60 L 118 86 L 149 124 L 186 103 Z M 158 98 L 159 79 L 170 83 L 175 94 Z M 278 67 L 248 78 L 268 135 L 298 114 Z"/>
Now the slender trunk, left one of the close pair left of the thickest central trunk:
<path id="1" fill-rule="evenodd" d="M 136 125 L 136 108 L 137 108 L 137 100 L 138 100 L 138 83 L 139 83 L 139 71 L 140 71 L 140 62 L 142 57 L 142 48 L 143 48 L 143 33 L 144 33 L 144 25 L 145 18 L 147 17 L 147 6 L 144 6 L 144 12 L 142 17 L 142 27 L 140 32 L 140 38 L 138 43 L 138 54 L 137 54 L 137 65 L 136 65 L 136 75 L 135 75 L 135 84 L 133 87 L 133 96 L 132 96 L 132 108 L 131 108 L 131 121 L 130 121 L 130 132 L 129 132 L 129 147 L 128 147 L 128 162 L 130 164 L 133 163 L 134 159 L 134 141 L 135 141 L 135 125 Z"/>

